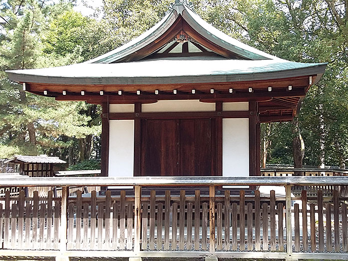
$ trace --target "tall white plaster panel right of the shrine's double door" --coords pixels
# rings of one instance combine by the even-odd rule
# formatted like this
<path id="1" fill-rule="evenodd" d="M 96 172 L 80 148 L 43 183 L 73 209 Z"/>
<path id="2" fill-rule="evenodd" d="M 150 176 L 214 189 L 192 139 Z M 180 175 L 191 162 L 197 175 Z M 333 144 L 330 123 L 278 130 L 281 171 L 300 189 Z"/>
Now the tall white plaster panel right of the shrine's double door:
<path id="1" fill-rule="evenodd" d="M 249 176 L 249 119 L 222 120 L 222 176 Z"/>

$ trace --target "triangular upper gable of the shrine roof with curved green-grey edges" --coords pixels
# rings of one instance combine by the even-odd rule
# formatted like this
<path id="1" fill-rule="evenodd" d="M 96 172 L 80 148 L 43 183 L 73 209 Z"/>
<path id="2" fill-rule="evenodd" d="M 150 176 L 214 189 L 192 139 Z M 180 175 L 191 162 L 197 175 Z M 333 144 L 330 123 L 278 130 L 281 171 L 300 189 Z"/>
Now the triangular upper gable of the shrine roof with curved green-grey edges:
<path id="1" fill-rule="evenodd" d="M 219 31 L 186 0 L 176 0 L 171 11 L 155 26 L 106 54 L 86 63 L 117 63 L 152 57 L 222 56 L 230 59 L 280 59 Z"/>

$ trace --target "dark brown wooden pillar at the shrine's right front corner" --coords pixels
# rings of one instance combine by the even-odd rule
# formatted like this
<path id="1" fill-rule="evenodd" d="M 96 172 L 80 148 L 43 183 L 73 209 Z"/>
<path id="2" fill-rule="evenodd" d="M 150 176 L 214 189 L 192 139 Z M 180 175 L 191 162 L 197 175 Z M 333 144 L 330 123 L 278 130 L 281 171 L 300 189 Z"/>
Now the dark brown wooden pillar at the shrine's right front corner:
<path id="1" fill-rule="evenodd" d="M 260 176 L 260 121 L 256 101 L 249 101 L 249 176 Z"/>

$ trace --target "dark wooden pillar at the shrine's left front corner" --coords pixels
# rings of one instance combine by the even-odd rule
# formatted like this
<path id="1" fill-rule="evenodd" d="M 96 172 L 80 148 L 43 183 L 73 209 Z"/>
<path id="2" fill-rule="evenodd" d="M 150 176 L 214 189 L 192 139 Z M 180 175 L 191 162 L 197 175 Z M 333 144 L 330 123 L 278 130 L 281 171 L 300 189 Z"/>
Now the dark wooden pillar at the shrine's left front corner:
<path id="1" fill-rule="evenodd" d="M 101 176 L 108 176 L 109 169 L 109 104 L 102 104 L 101 114 Z"/>

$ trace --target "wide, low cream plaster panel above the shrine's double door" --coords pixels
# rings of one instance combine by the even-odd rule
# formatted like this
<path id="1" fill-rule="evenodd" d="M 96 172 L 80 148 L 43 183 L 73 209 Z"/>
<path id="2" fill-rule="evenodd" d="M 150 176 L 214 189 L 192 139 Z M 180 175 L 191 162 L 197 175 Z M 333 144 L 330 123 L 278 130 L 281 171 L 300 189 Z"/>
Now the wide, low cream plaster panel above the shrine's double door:
<path id="1" fill-rule="evenodd" d="M 164 100 L 156 103 L 142 104 L 142 112 L 179 112 L 179 111 L 215 111 L 214 102 L 199 100 Z"/>

